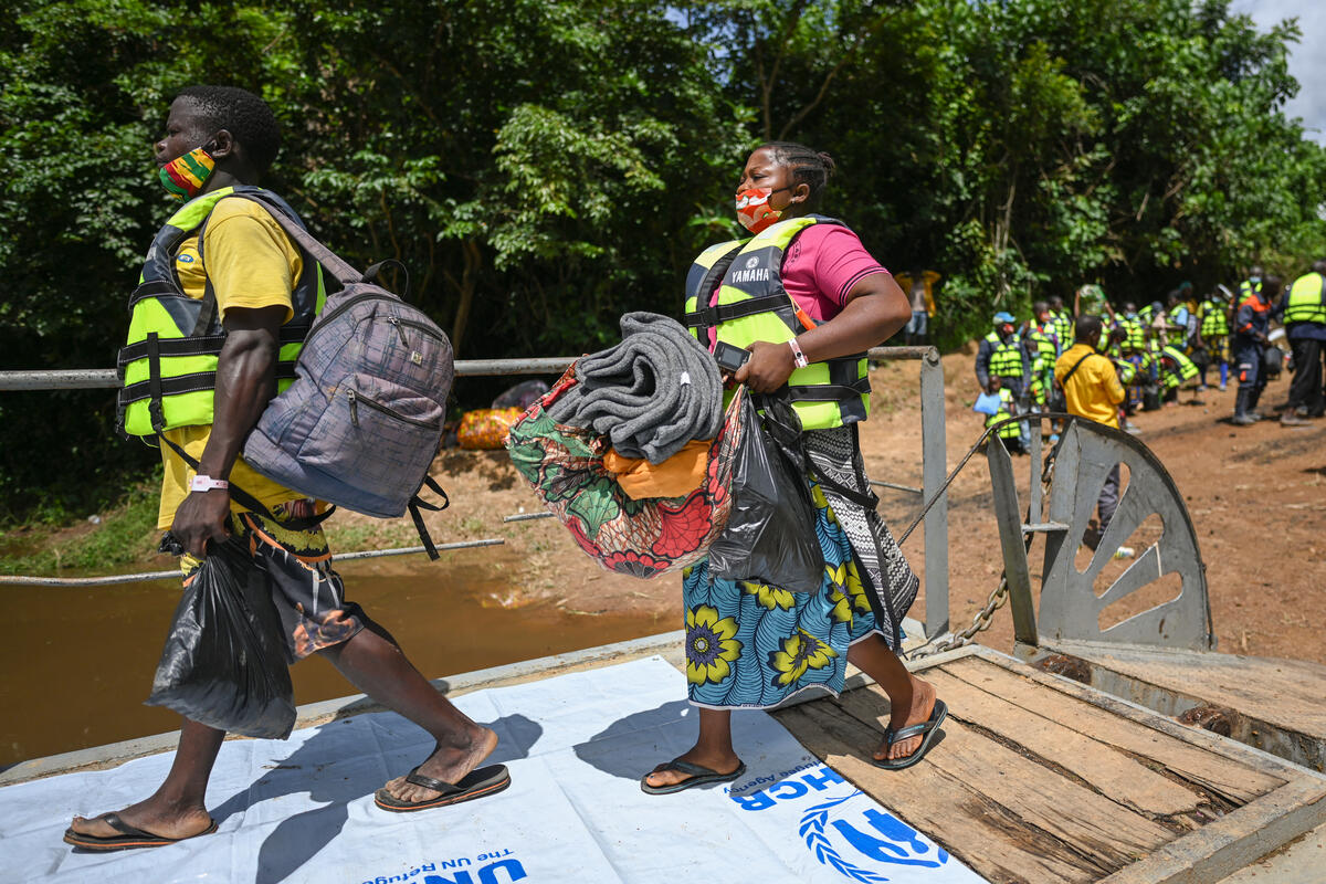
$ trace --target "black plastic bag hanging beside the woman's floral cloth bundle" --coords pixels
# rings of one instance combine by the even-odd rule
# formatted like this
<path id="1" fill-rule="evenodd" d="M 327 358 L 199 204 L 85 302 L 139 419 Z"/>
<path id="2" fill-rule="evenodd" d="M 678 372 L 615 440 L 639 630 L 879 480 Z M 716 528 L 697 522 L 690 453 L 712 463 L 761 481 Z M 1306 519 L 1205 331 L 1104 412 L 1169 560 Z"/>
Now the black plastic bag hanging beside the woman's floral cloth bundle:
<path id="1" fill-rule="evenodd" d="M 744 432 L 732 469 L 732 513 L 727 529 L 709 546 L 709 574 L 758 580 L 792 592 L 818 592 L 825 559 L 815 535 L 804 453 L 798 456 L 800 445 L 792 439 L 782 439 L 785 432 L 794 436 L 797 431 L 770 420 L 766 432 L 751 396 L 741 406 L 741 421 Z"/>

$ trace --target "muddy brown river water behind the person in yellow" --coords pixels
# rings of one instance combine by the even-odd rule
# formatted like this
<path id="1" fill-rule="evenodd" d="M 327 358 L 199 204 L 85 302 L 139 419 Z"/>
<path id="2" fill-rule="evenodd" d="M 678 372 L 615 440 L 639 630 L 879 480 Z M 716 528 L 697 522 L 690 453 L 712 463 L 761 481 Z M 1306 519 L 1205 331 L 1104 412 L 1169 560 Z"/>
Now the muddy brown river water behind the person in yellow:
<path id="1" fill-rule="evenodd" d="M 423 562 L 347 562 L 338 570 L 347 596 L 386 626 L 430 679 L 679 626 L 650 616 L 570 615 L 548 604 L 503 608 L 492 600 L 500 586 L 457 584 L 456 570 Z M 179 584 L 171 580 L 0 590 L 7 622 L 0 767 L 178 729 L 179 716 L 143 705 L 178 600 Z M 318 657 L 298 663 L 292 676 L 297 704 L 357 693 Z"/>

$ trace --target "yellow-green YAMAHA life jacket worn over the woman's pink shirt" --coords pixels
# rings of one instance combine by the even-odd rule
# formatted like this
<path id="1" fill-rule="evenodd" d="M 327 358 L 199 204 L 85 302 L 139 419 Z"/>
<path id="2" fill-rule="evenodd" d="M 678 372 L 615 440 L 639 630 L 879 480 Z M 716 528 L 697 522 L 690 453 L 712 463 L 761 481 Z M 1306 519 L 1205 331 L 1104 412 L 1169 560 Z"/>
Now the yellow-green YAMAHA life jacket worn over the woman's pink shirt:
<path id="1" fill-rule="evenodd" d="M 686 326 L 708 346 L 719 341 L 748 347 L 756 341 L 786 343 L 813 322 L 782 285 L 782 258 L 792 241 L 813 224 L 842 224 L 808 215 L 765 228 L 749 240 L 709 247 L 686 277 Z M 711 304 L 713 290 L 719 296 Z M 870 376 L 865 353 L 812 362 L 788 378 L 788 395 L 802 429 L 830 429 L 870 415 Z"/>

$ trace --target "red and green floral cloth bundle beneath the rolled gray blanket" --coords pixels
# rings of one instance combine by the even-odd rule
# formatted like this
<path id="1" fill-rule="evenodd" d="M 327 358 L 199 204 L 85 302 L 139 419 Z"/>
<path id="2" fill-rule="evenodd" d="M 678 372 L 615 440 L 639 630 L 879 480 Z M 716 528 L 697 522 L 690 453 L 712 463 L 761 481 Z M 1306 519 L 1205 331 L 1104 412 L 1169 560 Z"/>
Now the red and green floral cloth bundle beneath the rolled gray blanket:
<path id="1" fill-rule="evenodd" d="M 516 469 L 579 547 L 609 571 L 654 578 L 704 558 L 732 506 L 728 486 L 744 432 L 744 388 L 728 406 L 700 488 L 684 497 L 631 500 L 603 467 L 609 439 L 546 414 L 577 383 L 573 364 L 512 425 L 507 449 Z"/>

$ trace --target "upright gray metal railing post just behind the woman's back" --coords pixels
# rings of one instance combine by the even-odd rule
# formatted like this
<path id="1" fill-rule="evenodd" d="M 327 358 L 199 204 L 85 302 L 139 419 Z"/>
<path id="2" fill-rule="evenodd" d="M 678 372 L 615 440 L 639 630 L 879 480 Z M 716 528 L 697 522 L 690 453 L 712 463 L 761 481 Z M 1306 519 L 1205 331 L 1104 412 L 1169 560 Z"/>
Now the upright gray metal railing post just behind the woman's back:
<path id="1" fill-rule="evenodd" d="M 940 493 L 948 472 L 948 440 L 944 432 L 944 366 L 935 347 L 924 350 L 920 363 L 922 490 L 926 500 L 939 494 L 926 513 L 926 637 L 948 632 L 948 492 Z"/>

